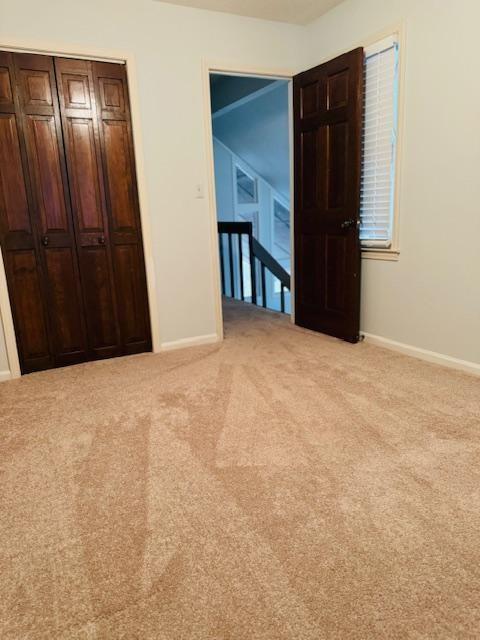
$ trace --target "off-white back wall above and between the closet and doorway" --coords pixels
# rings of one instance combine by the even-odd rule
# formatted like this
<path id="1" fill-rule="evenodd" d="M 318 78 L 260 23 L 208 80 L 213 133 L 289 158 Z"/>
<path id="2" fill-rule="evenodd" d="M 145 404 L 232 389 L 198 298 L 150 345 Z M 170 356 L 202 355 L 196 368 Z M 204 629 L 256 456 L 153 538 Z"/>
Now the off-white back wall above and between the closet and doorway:
<path id="1" fill-rule="evenodd" d="M 0 2 L 0 45 L 134 54 L 161 340 L 214 334 L 202 61 L 295 70 L 303 29 L 153 0 Z"/>

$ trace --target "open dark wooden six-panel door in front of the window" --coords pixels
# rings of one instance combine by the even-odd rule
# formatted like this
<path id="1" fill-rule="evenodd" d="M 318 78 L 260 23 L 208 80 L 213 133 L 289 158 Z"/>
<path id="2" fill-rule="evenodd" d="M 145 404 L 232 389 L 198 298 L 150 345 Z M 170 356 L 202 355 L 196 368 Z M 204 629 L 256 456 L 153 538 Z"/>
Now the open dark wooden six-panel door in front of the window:
<path id="1" fill-rule="evenodd" d="M 358 342 L 363 49 L 293 87 L 295 322 Z"/>

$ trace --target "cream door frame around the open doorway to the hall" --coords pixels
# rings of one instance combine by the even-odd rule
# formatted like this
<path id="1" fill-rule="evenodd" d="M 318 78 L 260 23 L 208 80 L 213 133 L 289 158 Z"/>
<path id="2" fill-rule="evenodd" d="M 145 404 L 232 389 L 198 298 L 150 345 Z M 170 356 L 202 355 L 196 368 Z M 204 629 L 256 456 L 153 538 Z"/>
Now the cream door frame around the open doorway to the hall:
<path id="1" fill-rule="evenodd" d="M 255 76 L 288 81 L 288 122 L 290 154 L 290 254 L 291 254 L 291 322 L 295 322 L 295 277 L 294 277 L 294 181 L 293 181 L 293 77 L 297 72 L 291 69 L 266 69 L 265 67 L 244 67 L 234 63 L 203 60 L 203 95 L 205 116 L 205 144 L 207 157 L 208 202 L 211 228 L 211 256 L 213 272 L 213 292 L 215 296 L 215 319 L 218 339 L 223 339 L 222 288 L 220 278 L 220 256 L 218 250 L 217 202 L 215 196 L 215 162 L 213 155 L 212 107 L 210 96 L 210 75 L 218 73 L 228 76 Z"/>

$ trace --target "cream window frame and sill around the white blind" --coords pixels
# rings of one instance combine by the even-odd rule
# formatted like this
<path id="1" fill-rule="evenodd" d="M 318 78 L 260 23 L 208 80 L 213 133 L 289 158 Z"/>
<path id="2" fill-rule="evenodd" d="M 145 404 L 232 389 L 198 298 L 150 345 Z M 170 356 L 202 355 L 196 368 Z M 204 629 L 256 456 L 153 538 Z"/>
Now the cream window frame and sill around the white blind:
<path id="1" fill-rule="evenodd" d="M 364 55 L 373 52 L 379 44 L 388 39 L 395 38 L 398 42 L 398 93 L 397 93 L 397 138 L 395 145 L 395 175 L 394 175 L 394 192 L 393 192 L 393 212 L 392 212 L 392 238 L 391 244 L 387 248 L 368 247 L 361 245 L 362 259 L 367 260 L 390 260 L 397 261 L 400 256 L 399 246 L 399 213 L 400 213 L 400 189 L 401 189 L 401 158 L 403 146 L 403 114 L 404 114 L 404 60 L 405 60 L 405 37 L 403 26 L 388 29 L 383 33 L 377 34 L 363 43 Z M 363 162 L 363 158 L 362 158 Z"/>

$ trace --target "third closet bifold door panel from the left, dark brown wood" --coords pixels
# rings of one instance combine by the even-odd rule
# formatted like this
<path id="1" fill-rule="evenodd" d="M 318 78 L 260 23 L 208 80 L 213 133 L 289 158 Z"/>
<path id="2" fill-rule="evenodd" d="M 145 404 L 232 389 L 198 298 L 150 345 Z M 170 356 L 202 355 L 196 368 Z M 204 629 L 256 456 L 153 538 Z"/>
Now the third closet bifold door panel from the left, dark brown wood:
<path id="1" fill-rule="evenodd" d="M 55 58 L 90 359 L 121 355 L 92 63 Z"/>

